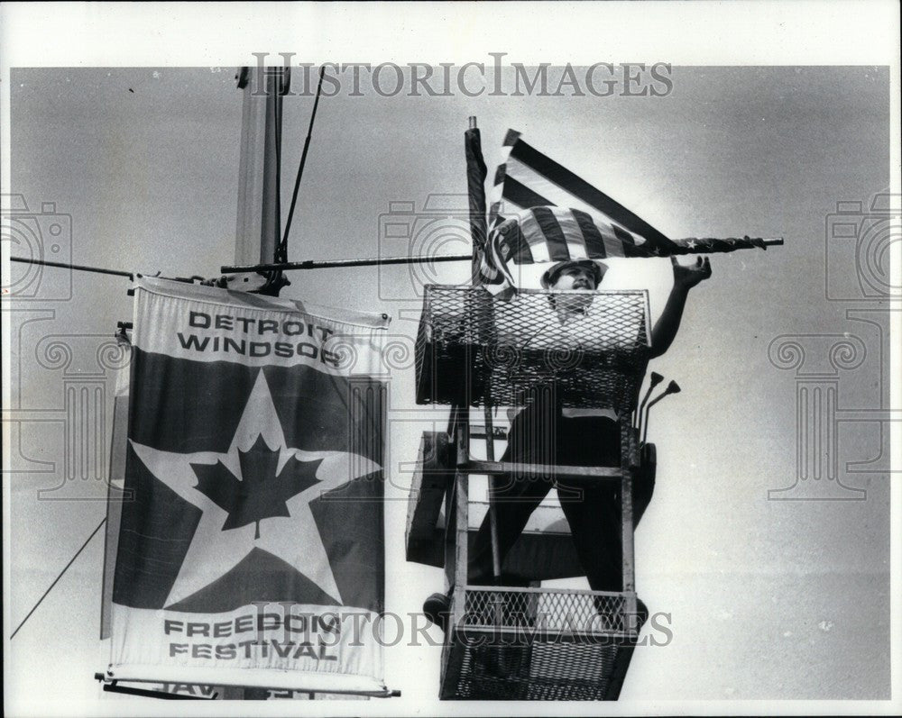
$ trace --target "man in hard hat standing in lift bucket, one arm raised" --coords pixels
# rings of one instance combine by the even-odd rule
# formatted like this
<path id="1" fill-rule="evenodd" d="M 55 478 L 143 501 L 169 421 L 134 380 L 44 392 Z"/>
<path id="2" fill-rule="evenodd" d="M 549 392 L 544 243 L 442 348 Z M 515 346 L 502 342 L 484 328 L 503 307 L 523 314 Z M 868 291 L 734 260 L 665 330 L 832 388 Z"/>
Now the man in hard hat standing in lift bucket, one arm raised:
<path id="1" fill-rule="evenodd" d="M 667 304 L 651 332 L 651 357 L 658 357 L 670 347 L 679 329 L 689 290 L 711 277 L 707 258 L 698 258 L 690 266 L 680 265 L 671 257 L 673 288 Z M 597 289 L 607 266 L 593 259 L 569 259 L 549 268 L 541 277 L 546 289 Z M 592 296 L 557 295 L 551 298 L 563 324 L 585 314 Z M 537 436 L 554 441 L 535 441 Z M 538 395 L 528 408 L 511 422 L 504 462 L 557 464 L 562 466 L 619 466 L 620 426 L 610 409 L 562 409 L 554 400 Z M 642 480 L 644 478 L 644 481 Z M 551 489 L 547 477 L 510 476 L 498 481 L 494 492 L 499 553 L 502 559 L 511 550 L 523 528 L 542 499 Z M 503 486 L 501 486 L 503 485 Z M 589 586 L 594 591 L 622 590 L 621 516 L 619 486 L 612 482 L 585 482 L 578 486 L 581 499 L 565 498 L 568 489 L 558 481 L 561 507 L 573 537 L 575 549 Z M 639 523 L 654 490 L 653 478 L 639 477 L 633 486 L 633 512 Z M 476 536 L 468 563 L 468 583 L 491 586 L 492 540 L 488 514 Z M 423 604 L 423 612 L 433 623 L 447 627 L 450 594 L 433 594 Z M 640 602 L 640 613 L 648 611 Z"/>

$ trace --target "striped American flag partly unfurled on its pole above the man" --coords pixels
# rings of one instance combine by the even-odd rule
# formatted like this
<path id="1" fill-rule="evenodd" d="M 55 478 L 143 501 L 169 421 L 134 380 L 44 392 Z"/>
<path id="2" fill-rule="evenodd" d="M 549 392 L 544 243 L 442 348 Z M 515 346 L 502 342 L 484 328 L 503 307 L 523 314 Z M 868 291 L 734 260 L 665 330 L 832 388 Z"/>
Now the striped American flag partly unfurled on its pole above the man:
<path id="1" fill-rule="evenodd" d="M 492 225 L 478 261 L 492 294 L 517 288 L 513 265 L 568 259 L 667 257 L 782 244 L 782 239 L 671 240 L 612 197 L 508 131 L 495 173 Z"/>

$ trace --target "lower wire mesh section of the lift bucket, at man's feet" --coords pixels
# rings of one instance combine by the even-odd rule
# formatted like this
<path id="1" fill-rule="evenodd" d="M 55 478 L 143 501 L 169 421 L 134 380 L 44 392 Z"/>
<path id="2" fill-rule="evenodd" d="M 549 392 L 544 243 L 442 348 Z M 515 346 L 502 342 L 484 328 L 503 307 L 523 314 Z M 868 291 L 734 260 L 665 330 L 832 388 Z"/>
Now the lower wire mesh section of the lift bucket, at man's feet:
<path id="1" fill-rule="evenodd" d="M 441 697 L 610 700 L 641 628 L 623 595 L 470 589 L 447 635 Z"/>

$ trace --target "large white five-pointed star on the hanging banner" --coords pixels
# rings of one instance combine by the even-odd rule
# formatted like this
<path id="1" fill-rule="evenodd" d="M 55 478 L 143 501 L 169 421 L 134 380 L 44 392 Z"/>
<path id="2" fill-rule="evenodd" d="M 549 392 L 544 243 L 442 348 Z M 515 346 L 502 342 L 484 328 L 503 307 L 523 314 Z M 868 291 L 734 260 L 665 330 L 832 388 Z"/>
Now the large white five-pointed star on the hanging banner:
<path id="1" fill-rule="evenodd" d="M 310 502 L 380 467 L 345 451 L 288 447 L 262 370 L 226 453 L 131 443 L 154 477 L 203 512 L 166 605 L 213 583 L 254 549 L 282 559 L 343 604 Z"/>

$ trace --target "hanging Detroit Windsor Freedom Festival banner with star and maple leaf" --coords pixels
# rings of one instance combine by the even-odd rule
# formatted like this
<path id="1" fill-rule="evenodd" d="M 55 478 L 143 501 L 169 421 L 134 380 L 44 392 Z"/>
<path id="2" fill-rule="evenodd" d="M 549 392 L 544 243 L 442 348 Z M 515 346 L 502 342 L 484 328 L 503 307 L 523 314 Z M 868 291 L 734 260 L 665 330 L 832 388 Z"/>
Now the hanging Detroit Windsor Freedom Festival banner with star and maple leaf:
<path id="1" fill-rule="evenodd" d="M 135 291 L 106 677 L 382 694 L 382 314 Z"/>

